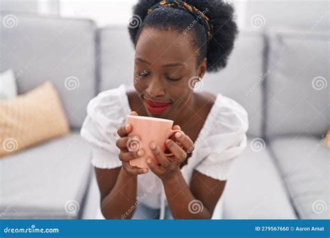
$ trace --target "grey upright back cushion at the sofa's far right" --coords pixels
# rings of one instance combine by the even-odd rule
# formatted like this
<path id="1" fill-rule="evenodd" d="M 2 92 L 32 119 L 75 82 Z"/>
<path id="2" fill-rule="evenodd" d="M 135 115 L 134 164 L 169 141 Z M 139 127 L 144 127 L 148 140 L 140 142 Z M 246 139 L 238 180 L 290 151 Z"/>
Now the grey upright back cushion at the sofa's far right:
<path id="1" fill-rule="evenodd" d="M 329 49 L 329 33 L 272 31 L 267 136 L 320 136 L 326 132 L 330 121 Z"/>

